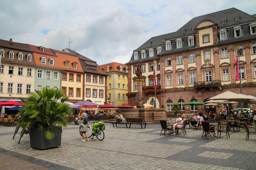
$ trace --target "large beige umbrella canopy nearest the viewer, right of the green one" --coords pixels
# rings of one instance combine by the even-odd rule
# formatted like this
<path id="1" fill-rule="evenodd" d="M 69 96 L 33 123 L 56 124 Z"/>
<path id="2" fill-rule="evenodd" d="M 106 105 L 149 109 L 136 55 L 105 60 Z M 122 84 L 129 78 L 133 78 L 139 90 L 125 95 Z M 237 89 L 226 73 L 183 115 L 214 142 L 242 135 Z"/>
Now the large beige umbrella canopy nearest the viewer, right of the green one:
<path id="1" fill-rule="evenodd" d="M 210 100 L 249 101 L 250 98 L 231 91 L 225 91 L 224 93 L 210 98 Z"/>

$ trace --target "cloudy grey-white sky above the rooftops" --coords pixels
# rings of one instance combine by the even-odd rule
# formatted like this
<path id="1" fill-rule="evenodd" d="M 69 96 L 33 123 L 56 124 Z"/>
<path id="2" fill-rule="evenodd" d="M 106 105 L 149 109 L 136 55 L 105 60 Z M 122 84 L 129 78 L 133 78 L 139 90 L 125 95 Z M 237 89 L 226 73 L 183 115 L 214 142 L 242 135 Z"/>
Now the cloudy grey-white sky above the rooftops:
<path id="1" fill-rule="evenodd" d="M 149 38 L 190 19 L 235 7 L 250 15 L 256 1 L 2 1 L 0 39 L 72 50 L 97 61 L 126 63 Z"/>

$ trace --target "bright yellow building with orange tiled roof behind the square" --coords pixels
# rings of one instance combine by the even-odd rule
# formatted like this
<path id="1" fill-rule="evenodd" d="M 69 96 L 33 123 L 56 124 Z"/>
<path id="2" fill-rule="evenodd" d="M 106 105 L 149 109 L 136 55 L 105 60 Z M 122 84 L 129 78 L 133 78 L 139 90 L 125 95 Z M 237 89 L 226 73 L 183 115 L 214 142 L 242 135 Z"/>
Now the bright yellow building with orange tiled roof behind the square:
<path id="1" fill-rule="evenodd" d="M 108 74 L 107 96 L 110 104 L 121 106 L 128 104 L 128 67 L 125 64 L 112 62 L 100 65 L 101 69 Z"/>

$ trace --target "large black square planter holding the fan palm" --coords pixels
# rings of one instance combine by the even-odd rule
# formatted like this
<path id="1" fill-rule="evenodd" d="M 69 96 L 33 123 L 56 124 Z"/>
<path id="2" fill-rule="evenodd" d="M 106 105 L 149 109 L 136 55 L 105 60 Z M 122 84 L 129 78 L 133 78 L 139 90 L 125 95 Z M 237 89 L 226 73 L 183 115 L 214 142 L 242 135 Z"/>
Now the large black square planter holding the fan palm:
<path id="1" fill-rule="evenodd" d="M 61 127 L 55 126 L 50 129 L 50 132 L 55 134 L 55 137 L 51 140 L 45 139 L 44 133 L 40 131 L 38 127 L 30 127 L 29 137 L 30 146 L 37 149 L 47 149 L 61 146 Z M 44 132 L 48 130 L 47 127 L 44 128 Z"/>

